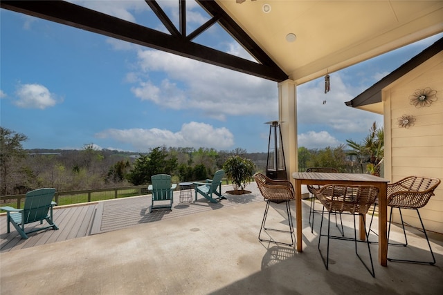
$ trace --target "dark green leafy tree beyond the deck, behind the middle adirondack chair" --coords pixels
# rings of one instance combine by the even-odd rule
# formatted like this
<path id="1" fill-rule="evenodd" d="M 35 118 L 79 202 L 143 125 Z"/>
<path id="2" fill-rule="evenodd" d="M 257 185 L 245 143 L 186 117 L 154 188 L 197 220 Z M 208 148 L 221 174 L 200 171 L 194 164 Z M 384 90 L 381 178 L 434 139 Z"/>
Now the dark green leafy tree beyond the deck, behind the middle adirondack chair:
<path id="1" fill-rule="evenodd" d="M 175 169 L 177 169 L 177 157 L 170 156 L 164 148 L 156 147 L 149 155 L 140 155 L 127 174 L 127 180 L 134 185 L 149 184 L 152 175 L 161 173 L 172 175 Z"/>

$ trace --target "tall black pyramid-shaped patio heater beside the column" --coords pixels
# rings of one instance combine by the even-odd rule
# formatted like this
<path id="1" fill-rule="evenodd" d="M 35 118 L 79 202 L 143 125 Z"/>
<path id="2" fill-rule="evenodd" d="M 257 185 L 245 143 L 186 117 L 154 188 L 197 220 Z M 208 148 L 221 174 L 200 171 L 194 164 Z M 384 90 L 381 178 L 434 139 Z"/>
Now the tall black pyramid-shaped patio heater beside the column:
<path id="1" fill-rule="evenodd" d="M 265 123 L 270 125 L 266 176 L 271 179 L 287 180 L 280 123 L 278 121 Z"/>

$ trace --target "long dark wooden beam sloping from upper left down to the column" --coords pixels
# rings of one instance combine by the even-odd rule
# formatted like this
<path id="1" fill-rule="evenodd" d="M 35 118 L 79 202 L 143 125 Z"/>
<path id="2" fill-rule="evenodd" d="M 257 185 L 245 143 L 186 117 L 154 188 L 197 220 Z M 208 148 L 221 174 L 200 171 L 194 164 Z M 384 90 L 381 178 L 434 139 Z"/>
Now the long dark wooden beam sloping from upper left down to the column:
<path id="1" fill-rule="evenodd" d="M 281 82 L 288 77 L 278 66 L 268 62 L 257 64 L 213 48 L 195 44 L 181 36 L 168 35 L 66 1 L 0 1 L 0 7 L 275 82 Z M 260 57 L 258 60 L 262 61 L 264 59 Z"/>

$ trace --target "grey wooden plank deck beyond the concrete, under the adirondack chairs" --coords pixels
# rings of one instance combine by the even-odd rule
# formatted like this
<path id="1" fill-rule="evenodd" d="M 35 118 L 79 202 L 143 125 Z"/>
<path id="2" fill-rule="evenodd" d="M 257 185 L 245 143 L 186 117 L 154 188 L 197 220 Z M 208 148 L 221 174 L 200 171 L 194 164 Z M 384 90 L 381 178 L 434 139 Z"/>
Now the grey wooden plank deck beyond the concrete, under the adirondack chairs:
<path id="1" fill-rule="evenodd" d="M 145 222 L 179 218 L 201 211 L 223 209 L 263 200 L 255 183 L 251 183 L 247 187 L 251 193 L 242 196 L 227 194 L 226 190 L 229 189 L 232 189 L 232 186 L 226 185 L 222 187 L 222 193 L 227 200 L 221 200 L 218 204 L 210 203 L 201 196 L 199 196 L 196 202 L 193 191 L 192 202 L 188 204 L 180 203 L 180 192 L 176 191 L 174 192 L 172 211 L 169 209 L 159 209 L 150 213 L 151 200 L 149 195 L 87 203 L 79 206 L 55 207 L 53 211 L 54 222 L 60 229 L 57 231 L 53 229 L 37 231 L 29 234 L 29 238 L 26 240 L 19 236 L 12 225 L 10 233 L 7 233 L 6 215 L 2 215 L 0 216 L 0 251 L 15 251 L 51 242 L 60 242 L 93 234 L 101 234 L 107 231 L 115 231 Z M 39 226 L 39 223 L 36 222 L 35 225 L 27 225 L 26 229 L 29 230 Z"/>

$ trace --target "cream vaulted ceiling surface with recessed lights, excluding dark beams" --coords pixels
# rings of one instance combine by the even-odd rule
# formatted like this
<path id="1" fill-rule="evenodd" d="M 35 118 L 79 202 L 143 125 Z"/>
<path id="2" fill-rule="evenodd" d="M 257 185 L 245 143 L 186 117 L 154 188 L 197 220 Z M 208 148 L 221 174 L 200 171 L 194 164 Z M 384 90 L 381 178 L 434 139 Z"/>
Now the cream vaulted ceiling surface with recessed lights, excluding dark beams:
<path id="1" fill-rule="evenodd" d="M 443 31 L 443 1 L 216 2 L 299 84 Z"/>

